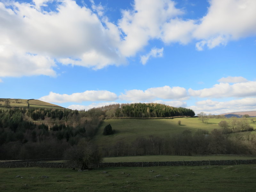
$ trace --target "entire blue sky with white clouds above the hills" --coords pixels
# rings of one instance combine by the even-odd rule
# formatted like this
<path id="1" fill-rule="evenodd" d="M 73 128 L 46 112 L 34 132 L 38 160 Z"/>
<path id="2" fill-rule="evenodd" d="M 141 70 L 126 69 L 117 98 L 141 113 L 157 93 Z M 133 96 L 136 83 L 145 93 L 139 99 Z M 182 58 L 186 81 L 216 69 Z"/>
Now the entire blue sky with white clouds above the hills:
<path id="1" fill-rule="evenodd" d="M 255 0 L 0 0 L 0 97 L 256 110 Z"/>

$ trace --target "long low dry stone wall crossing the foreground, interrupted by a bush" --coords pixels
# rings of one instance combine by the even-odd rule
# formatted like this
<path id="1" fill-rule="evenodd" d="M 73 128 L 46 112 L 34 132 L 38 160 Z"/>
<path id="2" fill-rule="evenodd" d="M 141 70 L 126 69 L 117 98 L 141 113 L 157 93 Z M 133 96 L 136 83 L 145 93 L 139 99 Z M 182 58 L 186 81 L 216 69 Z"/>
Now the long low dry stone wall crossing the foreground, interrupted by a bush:
<path id="1" fill-rule="evenodd" d="M 119 162 L 119 163 L 100 163 L 94 167 L 152 167 L 152 166 L 201 166 L 201 165 L 236 165 L 236 164 L 256 164 L 256 159 L 250 160 L 209 160 L 209 161 L 165 161 L 165 162 Z M 44 168 L 73 168 L 77 166 L 65 163 L 49 162 L 0 162 L 2 168 L 14 167 L 44 167 Z"/>

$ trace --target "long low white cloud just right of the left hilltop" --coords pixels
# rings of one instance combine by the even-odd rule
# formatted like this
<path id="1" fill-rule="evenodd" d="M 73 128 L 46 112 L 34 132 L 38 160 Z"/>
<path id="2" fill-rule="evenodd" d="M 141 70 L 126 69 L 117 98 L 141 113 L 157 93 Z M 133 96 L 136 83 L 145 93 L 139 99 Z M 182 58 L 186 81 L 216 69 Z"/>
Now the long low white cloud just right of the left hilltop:
<path id="1" fill-rule="evenodd" d="M 85 91 L 82 93 L 59 94 L 50 92 L 49 95 L 39 98 L 39 100 L 53 103 L 65 103 L 65 102 L 82 102 L 82 101 L 113 101 L 117 96 L 113 92 L 109 91 Z"/>

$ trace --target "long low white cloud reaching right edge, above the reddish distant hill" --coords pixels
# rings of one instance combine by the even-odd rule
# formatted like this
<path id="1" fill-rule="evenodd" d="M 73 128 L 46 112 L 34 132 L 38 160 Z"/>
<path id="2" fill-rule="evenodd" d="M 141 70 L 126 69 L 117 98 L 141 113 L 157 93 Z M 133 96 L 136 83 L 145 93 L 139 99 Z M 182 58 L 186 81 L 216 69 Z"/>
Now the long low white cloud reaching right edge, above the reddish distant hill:
<path id="1" fill-rule="evenodd" d="M 201 90 L 188 89 L 190 96 L 194 97 L 248 97 L 256 96 L 256 81 L 248 81 L 243 83 L 228 84 L 220 83 L 213 85 L 212 88 Z"/>

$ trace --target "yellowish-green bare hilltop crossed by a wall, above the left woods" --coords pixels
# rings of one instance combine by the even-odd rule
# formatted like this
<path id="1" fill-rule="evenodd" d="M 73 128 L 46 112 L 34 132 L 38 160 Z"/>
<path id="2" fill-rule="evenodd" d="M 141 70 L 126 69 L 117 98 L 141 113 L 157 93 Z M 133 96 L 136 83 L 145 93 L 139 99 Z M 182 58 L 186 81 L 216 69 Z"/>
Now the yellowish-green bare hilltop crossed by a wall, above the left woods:
<path id="1" fill-rule="evenodd" d="M 9 100 L 8 107 L 20 107 L 20 108 L 63 108 L 59 105 L 47 103 L 36 99 L 0 99 L 0 107 L 6 107 L 6 100 Z"/>

